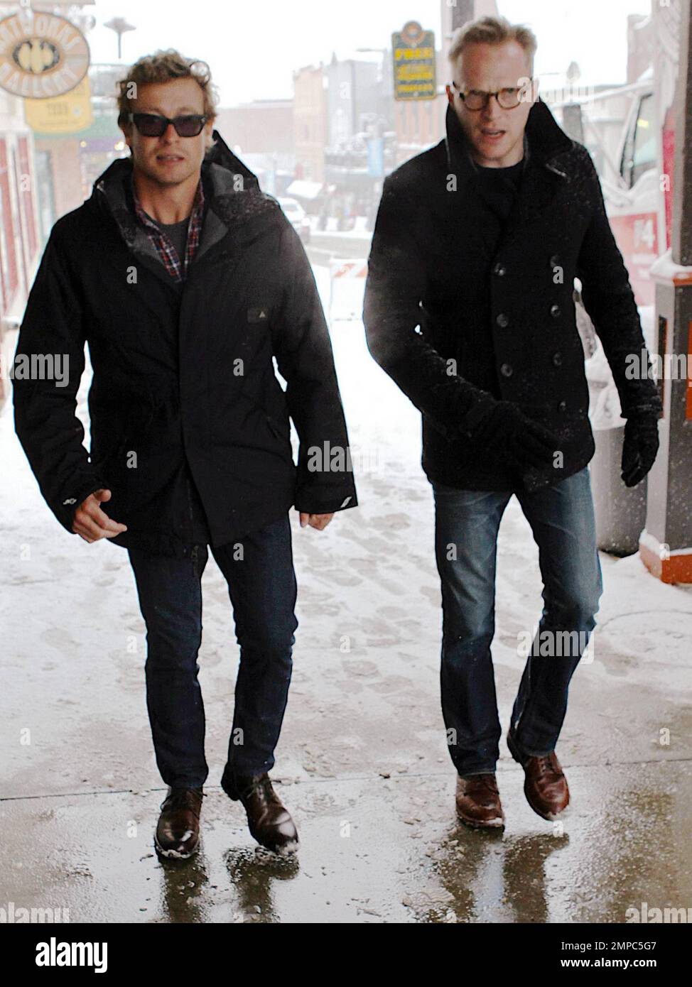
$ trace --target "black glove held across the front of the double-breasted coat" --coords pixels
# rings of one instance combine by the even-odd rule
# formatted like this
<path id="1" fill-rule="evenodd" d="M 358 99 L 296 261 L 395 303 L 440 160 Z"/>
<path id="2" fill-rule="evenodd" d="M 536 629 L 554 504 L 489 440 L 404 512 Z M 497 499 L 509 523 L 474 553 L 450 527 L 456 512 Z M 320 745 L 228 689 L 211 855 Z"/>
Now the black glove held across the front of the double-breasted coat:
<path id="1" fill-rule="evenodd" d="M 473 441 L 494 457 L 524 473 L 553 465 L 558 439 L 538 422 L 527 418 L 511 401 L 497 401 L 470 432 Z"/>

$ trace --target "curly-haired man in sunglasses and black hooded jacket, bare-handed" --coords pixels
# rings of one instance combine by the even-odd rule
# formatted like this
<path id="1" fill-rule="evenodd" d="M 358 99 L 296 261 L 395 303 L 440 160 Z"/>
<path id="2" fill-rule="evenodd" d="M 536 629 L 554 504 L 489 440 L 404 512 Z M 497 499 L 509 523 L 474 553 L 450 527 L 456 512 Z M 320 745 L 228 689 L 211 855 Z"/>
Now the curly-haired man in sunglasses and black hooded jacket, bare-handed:
<path id="1" fill-rule="evenodd" d="M 128 551 L 169 787 L 158 852 L 187 858 L 199 841 L 207 546 L 240 644 L 221 786 L 260 843 L 291 852 L 296 827 L 268 774 L 297 628 L 288 510 L 322 531 L 356 504 L 331 342 L 298 235 L 212 129 L 208 67 L 176 51 L 141 58 L 118 110 L 130 157 L 55 224 L 18 343 L 66 353 L 69 386 L 16 379 L 17 433 L 60 523 Z M 85 342 L 90 456 L 75 417 Z"/>

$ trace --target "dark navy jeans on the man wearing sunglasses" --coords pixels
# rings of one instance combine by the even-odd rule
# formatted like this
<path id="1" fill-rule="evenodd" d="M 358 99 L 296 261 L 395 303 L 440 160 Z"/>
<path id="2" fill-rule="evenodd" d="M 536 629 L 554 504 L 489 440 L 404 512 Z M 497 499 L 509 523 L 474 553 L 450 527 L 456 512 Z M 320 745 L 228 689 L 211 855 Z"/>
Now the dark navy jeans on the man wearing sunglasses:
<path id="1" fill-rule="evenodd" d="M 226 774 L 258 775 L 274 764 L 298 627 L 288 515 L 211 553 L 228 583 L 240 645 Z M 199 788 L 208 774 L 197 681 L 206 545 L 194 555 L 172 559 L 129 549 L 147 630 L 146 700 L 156 763 L 172 788 Z"/>

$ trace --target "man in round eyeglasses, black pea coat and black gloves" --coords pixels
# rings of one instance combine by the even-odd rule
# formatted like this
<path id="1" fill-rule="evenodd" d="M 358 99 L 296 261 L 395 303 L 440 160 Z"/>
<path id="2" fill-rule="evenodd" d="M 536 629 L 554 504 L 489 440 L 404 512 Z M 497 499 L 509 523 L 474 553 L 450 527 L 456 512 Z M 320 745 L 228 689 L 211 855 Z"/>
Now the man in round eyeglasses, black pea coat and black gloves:
<path id="1" fill-rule="evenodd" d="M 627 418 L 628 487 L 654 463 L 660 413 L 653 380 L 626 373 L 645 345 L 637 305 L 590 156 L 537 98 L 535 48 L 530 30 L 501 18 L 453 39 L 446 137 L 385 181 L 363 312 L 372 356 L 423 414 L 456 807 L 492 829 L 504 824 L 496 556 L 512 494 L 538 545 L 544 606 L 507 745 L 549 820 L 570 801 L 555 747 L 602 591 L 576 277 Z"/>

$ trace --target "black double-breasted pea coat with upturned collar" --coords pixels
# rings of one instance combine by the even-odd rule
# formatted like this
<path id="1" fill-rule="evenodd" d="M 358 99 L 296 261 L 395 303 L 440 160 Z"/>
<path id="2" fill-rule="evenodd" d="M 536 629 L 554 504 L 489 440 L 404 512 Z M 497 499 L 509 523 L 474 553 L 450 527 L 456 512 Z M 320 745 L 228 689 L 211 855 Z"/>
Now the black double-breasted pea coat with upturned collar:
<path id="1" fill-rule="evenodd" d="M 528 114 L 523 160 L 503 222 L 448 107 L 446 137 L 385 180 L 373 234 L 368 348 L 423 413 L 427 478 L 459 489 L 535 489 L 591 459 L 576 277 L 623 415 L 660 408 L 654 382 L 626 374 L 627 355 L 646 347 L 590 155 L 540 100 Z M 473 440 L 495 400 L 556 435 L 562 459 L 545 475 L 516 474 Z"/>

